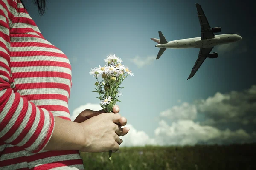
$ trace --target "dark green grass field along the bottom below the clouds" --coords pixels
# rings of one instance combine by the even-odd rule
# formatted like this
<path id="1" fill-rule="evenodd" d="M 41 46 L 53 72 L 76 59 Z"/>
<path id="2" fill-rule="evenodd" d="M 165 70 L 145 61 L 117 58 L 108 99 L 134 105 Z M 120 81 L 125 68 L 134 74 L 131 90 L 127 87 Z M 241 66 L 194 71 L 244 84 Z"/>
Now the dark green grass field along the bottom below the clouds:
<path id="1" fill-rule="evenodd" d="M 81 153 L 86 170 L 256 170 L 256 144 L 121 147 L 112 154 Z"/>

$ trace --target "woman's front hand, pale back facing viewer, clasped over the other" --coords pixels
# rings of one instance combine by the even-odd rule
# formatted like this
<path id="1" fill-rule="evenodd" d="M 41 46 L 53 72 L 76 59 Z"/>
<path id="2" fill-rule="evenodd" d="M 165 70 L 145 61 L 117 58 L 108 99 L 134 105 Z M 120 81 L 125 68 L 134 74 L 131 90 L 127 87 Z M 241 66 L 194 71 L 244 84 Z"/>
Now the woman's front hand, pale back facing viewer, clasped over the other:
<path id="1" fill-rule="evenodd" d="M 81 152 L 108 152 L 110 150 L 116 152 L 119 150 L 119 144 L 122 143 L 119 136 L 125 135 L 123 129 L 118 125 L 120 119 L 119 113 L 111 112 L 98 114 L 81 122 L 84 143 L 79 150 Z"/>

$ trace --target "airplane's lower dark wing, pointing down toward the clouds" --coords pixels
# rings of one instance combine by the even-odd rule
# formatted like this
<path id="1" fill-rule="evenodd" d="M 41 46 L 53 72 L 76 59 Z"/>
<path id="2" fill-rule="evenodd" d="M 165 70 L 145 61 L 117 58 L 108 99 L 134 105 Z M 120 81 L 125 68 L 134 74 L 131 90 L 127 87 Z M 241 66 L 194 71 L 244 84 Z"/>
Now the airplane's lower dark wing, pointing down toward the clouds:
<path id="1" fill-rule="evenodd" d="M 192 68 L 188 79 L 192 78 L 195 75 L 195 73 L 198 71 L 198 69 L 203 64 L 204 60 L 206 59 L 207 54 L 209 54 L 212 51 L 212 48 L 201 48 L 200 49 L 199 54 L 198 54 L 198 59 L 196 60 L 195 65 Z"/>

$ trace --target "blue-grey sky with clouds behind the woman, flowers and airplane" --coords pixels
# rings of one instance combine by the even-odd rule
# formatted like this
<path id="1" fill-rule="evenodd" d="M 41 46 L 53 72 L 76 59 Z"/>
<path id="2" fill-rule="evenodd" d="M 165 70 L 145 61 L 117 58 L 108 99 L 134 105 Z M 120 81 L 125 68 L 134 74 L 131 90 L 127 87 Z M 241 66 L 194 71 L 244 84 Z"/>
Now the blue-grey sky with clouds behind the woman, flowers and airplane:
<path id="1" fill-rule="evenodd" d="M 168 41 L 200 37 L 195 3 L 218 34 L 243 39 L 218 45 L 192 79 L 187 80 L 199 49 L 159 48 L 150 38 L 162 31 Z M 122 58 L 134 73 L 123 82 L 117 103 L 130 132 L 122 146 L 232 144 L 256 142 L 256 17 L 250 3 L 222 0 L 76 0 L 48 1 L 40 17 L 25 1 L 32 19 L 49 42 L 61 49 L 72 67 L 71 118 L 84 109 L 102 109 L 90 68 L 104 65 L 109 54 Z"/>

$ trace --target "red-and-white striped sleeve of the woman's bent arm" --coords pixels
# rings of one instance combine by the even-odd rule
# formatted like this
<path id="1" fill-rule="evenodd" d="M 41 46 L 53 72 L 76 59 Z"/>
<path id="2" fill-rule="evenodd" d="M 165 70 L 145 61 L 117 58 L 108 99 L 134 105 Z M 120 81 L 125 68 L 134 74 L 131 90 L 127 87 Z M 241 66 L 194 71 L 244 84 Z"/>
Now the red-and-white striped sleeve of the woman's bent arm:
<path id="1" fill-rule="evenodd" d="M 0 0 L 0 142 L 38 153 L 51 138 L 54 116 L 12 90 L 10 29 L 16 14 L 16 0 Z"/>

